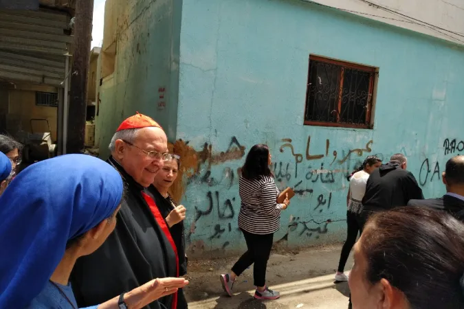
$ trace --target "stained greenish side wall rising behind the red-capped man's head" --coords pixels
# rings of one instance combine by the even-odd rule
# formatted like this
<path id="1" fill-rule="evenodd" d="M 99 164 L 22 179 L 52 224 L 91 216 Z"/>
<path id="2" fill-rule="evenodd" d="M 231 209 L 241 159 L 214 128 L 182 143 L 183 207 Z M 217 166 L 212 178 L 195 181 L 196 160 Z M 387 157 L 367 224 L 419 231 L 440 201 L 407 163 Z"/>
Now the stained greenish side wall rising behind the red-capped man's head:
<path id="1" fill-rule="evenodd" d="M 175 139 L 180 18 L 181 0 L 107 1 L 96 119 L 100 157 L 109 155 L 115 129 L 136 111 L 157 119 Z"/>

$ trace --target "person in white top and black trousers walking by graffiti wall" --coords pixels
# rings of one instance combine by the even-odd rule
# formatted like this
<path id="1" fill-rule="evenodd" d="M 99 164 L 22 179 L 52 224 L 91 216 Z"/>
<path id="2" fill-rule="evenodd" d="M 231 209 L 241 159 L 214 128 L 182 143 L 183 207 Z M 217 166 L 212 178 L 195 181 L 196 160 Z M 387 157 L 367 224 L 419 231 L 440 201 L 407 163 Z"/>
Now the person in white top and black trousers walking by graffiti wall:
<path id="1" fill-rule="evenodd" d="M 346 224 L 348 228 L 346 230 L 346 241 L 342 248 L 342 253 L 340 254 L 340 262 L 338 264 L 338 271 L 335 274 L 335 281 L 343 282 L 348 281 L 348 277 L 343 273 L 346 260 L 350 255 L 351 249 L 355 245 L 357 234 L 362 233 L 359 214 L 362 211 L 362 198 L 364 197 L 364 192 L 366 192 L 366 183 L 369 178 L 369 174 L 373 172 L 376 168 L 382 164 L 382 161 L 379 157 L 368 156 L 362 163 L 361 167 L 358 168 L 351 174 L 349 179 L 350 187 L 348 190 L 348 195 L 346 196 L 346 204 L 348 209 L 346 211 Z"/>

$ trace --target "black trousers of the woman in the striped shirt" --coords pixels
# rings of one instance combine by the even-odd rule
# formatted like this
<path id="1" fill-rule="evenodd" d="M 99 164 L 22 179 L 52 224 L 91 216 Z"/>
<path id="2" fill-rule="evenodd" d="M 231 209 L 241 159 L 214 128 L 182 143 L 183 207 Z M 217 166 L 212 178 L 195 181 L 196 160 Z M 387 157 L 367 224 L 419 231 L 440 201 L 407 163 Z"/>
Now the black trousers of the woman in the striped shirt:
<path id="1" fill-rule="evenodd" d="M 245 242 L 247 242 L 247 252 L 239 258 L 239 260 L 232 267 L 232 271 L 237 275 L 241 275 L 245 269 L 253 266 L 253 278 L 255 286 L 266 285 L 266 268 L 267 260 L 271 255 L 272 241 L 274 240 L 274 233 L 258 235 L 243 231 Z"/>

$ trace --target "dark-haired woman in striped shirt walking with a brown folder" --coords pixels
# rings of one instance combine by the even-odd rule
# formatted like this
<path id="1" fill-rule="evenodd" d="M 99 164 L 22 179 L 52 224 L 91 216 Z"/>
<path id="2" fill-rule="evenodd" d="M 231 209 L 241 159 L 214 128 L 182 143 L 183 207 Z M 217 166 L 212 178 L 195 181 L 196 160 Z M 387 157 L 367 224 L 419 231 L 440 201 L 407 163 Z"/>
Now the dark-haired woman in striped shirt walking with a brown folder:
<path id="1" fill-rule="evenodd" d="M 273 236 L 280 228 L 280 211 L 287 209 L 290 201 L 277 203 L 280 193 L 274 183 L 269 165 L 272 156 L 266 145 L 255 145 L 248 152 L 239 182 L 241 208 L 239 228 L 245 236 L 248 250 L 234 264 L 229 274 L 221 275 L 223 289 L 232 296 L 236 277 L 254 263 L 253 277 L 256 299 L 278 299 L 280 294 L 266 286 L 267 260 L 271 254 Z"/>

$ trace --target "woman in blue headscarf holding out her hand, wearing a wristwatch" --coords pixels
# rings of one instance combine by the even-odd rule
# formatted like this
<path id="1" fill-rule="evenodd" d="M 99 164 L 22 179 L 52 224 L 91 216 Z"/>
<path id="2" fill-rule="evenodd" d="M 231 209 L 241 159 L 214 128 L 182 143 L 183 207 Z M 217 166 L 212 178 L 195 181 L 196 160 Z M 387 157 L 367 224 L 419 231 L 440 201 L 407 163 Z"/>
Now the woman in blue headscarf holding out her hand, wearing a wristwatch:
<path id="1" fill-rule="evenodd" d="M 122 193 L 120 174 L 87 155 L 41 161 L 16 176 L 0 196 L 0 308 L 77 309 L 69 274 L 113 231 Z M 142 308 L 187 283 L 155 279 L 98 309 Z"/>

